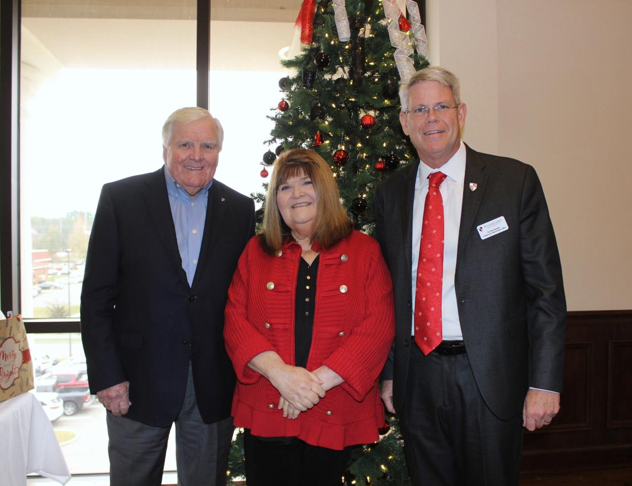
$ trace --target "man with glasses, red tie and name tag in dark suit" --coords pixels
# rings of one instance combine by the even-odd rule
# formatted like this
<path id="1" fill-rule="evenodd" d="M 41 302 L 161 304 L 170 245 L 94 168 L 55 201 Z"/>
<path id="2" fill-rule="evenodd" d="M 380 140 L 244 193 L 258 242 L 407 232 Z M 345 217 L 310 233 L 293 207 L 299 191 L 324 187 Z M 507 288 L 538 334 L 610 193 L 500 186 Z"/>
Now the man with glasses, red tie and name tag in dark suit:
<path id="1" fill-rule="evenodd" d="M 542 186 L 461 141 L 449 71 L 418 71 L 399 95 L 420 161 L 375 195 L 396 305 L 382 399 L 413 485 L 516 485 L 522 427 L 548 425 L 562 388 L 566 302 Z"/>

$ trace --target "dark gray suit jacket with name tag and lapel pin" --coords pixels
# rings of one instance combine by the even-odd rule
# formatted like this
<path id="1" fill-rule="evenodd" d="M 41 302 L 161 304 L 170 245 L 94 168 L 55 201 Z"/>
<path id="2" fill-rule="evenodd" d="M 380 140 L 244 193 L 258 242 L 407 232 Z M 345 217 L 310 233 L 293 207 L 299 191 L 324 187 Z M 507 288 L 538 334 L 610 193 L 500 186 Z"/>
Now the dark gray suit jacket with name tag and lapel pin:
<path id="1" fill-rule="evenodd" d="M 566 300 L 557 243 L 533 167 L 467 147 L 456 258 L 459 320 L 471 370 L 490 410 L 521 413 L 528 387 L 561 391 Z M 404 401 L 411 340 L 411 241 L 418 163 L 375 193 L 377 240 L 391 270 L 396 338 L 382 377 Z M 470 183 L 476 183 L 472 191 Z M 504 216 L 509 229 L 485 240 L 477 226 Z"/>

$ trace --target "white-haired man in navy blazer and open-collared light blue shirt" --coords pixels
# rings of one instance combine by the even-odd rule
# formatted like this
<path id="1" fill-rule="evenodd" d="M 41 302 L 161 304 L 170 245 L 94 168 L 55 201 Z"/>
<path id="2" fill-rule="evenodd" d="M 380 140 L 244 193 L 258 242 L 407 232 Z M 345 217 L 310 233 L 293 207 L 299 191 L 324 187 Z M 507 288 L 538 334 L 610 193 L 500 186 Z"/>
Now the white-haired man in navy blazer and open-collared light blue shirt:
<path id="1" fill-rule="evenodd" d="M 165 165 L 103 186 L 83 280 L 90 389 L 107 408 L 112 485 L 159 485 L 176 423 L 178 484 L 226 482 L 234 373 L 228 286 L 254 233 L 252 199 L 213 178 L 221 124 L 173 112 Z"/>

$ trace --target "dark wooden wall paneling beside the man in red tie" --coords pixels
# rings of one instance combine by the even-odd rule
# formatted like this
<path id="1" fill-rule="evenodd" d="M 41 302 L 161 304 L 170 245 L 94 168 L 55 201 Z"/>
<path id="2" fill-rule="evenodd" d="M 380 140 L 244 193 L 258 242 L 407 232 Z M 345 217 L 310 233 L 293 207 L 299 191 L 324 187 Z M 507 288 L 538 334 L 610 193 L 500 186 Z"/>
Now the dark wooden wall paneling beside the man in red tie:
<path id="1" fill-rule="evenodd" d="M 632 466 L 632 310 L 568 313 L 561 406 L 525 432 L 523 473 Z"/>

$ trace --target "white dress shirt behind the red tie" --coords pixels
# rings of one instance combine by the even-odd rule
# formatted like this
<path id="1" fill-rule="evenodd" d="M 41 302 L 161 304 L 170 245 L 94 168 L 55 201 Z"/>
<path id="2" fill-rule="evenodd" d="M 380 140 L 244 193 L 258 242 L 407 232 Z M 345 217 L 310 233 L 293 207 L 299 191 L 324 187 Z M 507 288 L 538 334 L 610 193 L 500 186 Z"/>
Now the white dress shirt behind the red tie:
<path id="1" fill-rule="evenodd" d="M 461 141 L 456 154 L 439 169 L 428 167 L 423 161 L 419 164 L 415 181 L 415 201 L 413 202 L 413 258 L 411 286 L 413 289 L 413 322 L 411 335 L 415 334 L 415 288 L 417 281 L 417 262 L 419 245 L 422 240 L 423 207 L 428 193 L 428 176 L 434 172 L 446 174 L 439 187 L 443 199 L 444 246 L 443 246 L 443 284 L 441 296 L 441 321 L 444 341 L 461 341 L 463 333 L 459 322 L 459 310 L 456 307 L 454 292 L 454 272 L 456 270 L 456 247 L 459 241 L 461 224 L 461 206 L 463 205 L 463 181 L 465 180 L 465 144 Z"/>

